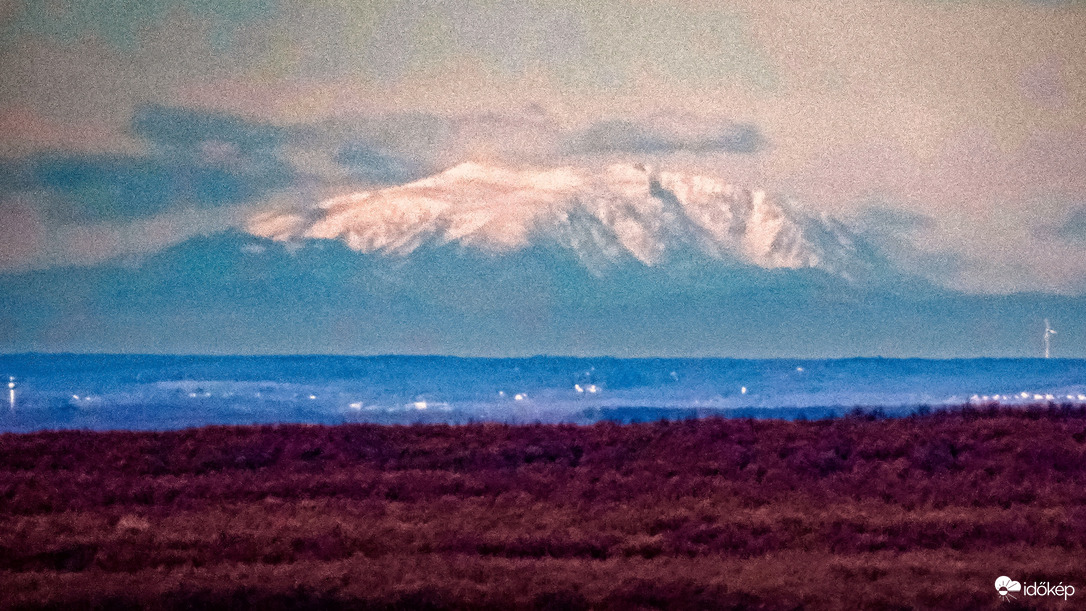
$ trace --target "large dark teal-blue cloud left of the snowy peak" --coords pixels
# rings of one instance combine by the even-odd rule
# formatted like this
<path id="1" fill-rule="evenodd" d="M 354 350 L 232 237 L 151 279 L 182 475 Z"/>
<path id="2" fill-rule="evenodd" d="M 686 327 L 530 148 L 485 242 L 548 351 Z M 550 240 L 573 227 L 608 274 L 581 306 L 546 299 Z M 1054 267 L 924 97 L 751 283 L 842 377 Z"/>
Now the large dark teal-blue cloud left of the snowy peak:
<path id="1" fill-rule="evenodd" d="M 0 189 L 35 193 L 53 224 L 124 221 L 176 207 L 253 201 L 294 181 L 283 130 L 219 113 L 149 105 L 132 131 L 150 154 L 43 153 L 7 162 Z"/>

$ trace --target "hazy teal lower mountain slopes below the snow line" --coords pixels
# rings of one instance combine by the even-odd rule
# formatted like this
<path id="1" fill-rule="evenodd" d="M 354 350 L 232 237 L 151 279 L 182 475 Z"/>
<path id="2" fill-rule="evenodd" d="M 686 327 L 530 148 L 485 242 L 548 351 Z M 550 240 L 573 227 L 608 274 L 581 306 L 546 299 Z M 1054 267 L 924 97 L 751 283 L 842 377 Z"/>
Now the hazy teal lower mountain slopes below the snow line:
<path id="1" fill-rule="evenodd" d="M 1086 356 L 1082 297 L 889 289 L 711 260 L 594 275 L 556 243 L 388 256 L 225 232 L 138 263 L 0 275 L 0 352 L 1027 356 L 1050 317 L 1057 355 Z"/>

